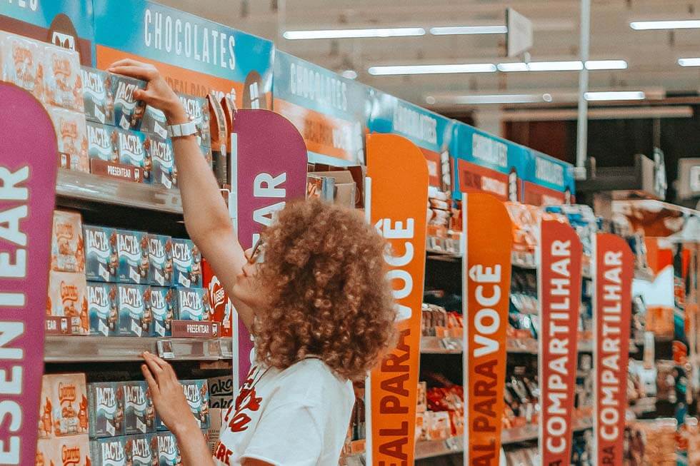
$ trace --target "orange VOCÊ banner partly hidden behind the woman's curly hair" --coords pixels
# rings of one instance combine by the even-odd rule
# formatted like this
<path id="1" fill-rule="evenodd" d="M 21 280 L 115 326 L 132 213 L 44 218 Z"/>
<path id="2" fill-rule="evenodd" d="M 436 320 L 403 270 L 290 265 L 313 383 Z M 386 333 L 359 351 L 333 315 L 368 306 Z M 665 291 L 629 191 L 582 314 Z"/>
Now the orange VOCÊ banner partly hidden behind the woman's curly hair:
<path id="1" fill-rule="evenodd" d="M 428 166 L 420 149 L 394 134 L 367 136 L 369 219 L 389 245 L 387 278 L 396 300 L 399 341 L 372 370 L 367 464 L 414 464 L 421 304 L 425 275 Z"/>

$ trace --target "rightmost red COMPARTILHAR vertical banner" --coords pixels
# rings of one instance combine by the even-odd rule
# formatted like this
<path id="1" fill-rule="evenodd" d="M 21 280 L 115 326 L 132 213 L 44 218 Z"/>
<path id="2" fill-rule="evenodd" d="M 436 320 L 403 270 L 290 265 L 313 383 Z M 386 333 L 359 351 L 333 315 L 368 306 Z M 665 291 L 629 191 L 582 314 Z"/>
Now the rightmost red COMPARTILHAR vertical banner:
<path id="1" fill-rule="evenodd" d="M 634 256 L 611 233 L 596 234 L 594 251 L 594 465 L 622 466 Z"/>

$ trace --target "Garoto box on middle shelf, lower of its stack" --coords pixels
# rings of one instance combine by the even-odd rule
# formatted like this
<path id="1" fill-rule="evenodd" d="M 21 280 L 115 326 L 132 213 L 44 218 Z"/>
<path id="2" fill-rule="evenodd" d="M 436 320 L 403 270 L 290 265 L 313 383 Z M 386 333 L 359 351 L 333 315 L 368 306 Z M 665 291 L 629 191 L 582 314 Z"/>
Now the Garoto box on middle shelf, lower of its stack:
<path id="1" fill-rule="evenodd" d="M 49 295 L 46 311 L 71 320 L 71 333 L 87 335 L 90 324 L 86 295 L 87 283 L 82 273 L 49 272 Z"/>

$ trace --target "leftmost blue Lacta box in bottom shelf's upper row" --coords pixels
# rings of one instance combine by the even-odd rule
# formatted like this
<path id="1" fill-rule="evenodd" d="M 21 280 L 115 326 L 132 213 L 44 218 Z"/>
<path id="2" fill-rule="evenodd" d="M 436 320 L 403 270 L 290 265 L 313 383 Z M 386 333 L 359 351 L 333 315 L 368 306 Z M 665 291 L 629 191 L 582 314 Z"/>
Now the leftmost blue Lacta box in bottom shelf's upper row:
<path id="1" fill-rule="evenodd" d="M 124 397 L 118 382 L 88 384 L 90 437 L 124 435 Z"/>

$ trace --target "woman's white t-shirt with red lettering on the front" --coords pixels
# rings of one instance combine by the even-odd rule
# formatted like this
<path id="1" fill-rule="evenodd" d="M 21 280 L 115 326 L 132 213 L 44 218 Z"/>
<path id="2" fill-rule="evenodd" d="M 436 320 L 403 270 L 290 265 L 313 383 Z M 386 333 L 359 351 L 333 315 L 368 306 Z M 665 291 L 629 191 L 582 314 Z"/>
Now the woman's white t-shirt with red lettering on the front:
<path id="1" fill-rule="evenodd" d="M 244 458 L 284 466 L 337 465 L 355 402 L 352 383 L 321 360 L 285 370 L 253 367 L 234 406 L 224 412 L 214 463 Z"/>

